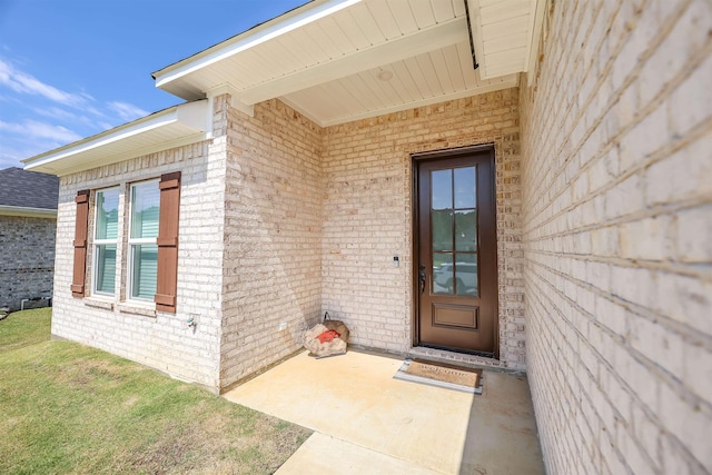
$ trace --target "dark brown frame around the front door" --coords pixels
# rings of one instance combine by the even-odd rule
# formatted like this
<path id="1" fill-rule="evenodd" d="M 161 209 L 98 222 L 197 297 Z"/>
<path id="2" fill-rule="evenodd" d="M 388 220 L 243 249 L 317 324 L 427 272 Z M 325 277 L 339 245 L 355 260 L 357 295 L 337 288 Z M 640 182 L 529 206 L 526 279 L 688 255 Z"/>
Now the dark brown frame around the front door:
<path id="1" fill-rule="evenodd" d="M 411 255 L 413 256 L 412 269 L 411 269 L 411 306 L 413 310 L 411 311 L 411 331 L 412 342 L 411 345 L 413 347 L 419 346 L 421 343 L 421 328 L 419 328 L 419 300 L 421 293 L 418 290 L 418 266 L 419 266 L 419 194 L 418 194 L 418 164 L 425 160 L 437 160 L 437 159 L 447 159 L 447 158 L 461 158 L 467 157 L 474 154 L 483 155 L 487 152 L 490 155 L 490 160 L 492 162 L 492 199 L 490 202 L 492 204 L 492 214 L 495 220 L 495 228 L 497 226 L 497 188 L 496 188 L 496 155 L 494 149 L 494 144 L 482 144 L 468 147 L 459 147 L 459 148 L 449 148 L 444 150 L 434 150 L 434 151 L 424 151 L 417 154 L 411 154 L 411 236 L 413 237 L 412 244 L 413 248 L 411 249 Z M 496 228 L 497 229 L 497 228 Z M 498 248 L 498 232 L 495 232 L 495 261 L 497 265 L 495 266 L 496 273 L 496 287 L 497 291 L 494 295 L 495 299 L 495 317 L 494 317 L 494 359 L 500 359 L 500 256 L 497 254 Z M 454 349 L 448 349 L 449 352 L 469 354 L 468 352 L 457 352 Z M 476 354 L 476 353 L 475 353 Z"/>

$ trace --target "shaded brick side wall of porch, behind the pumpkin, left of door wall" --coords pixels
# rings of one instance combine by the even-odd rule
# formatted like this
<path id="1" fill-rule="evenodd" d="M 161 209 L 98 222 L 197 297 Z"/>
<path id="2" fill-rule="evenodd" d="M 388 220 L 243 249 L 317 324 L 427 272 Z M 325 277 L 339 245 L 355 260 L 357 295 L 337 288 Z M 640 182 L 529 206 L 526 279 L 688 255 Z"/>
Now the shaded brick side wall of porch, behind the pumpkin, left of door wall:
<path id="1" fill-rule="evenodd" d="M 270 100 L 227 138 L 222 387 L 299 349 L 322 299 L 319 127 Z"/>

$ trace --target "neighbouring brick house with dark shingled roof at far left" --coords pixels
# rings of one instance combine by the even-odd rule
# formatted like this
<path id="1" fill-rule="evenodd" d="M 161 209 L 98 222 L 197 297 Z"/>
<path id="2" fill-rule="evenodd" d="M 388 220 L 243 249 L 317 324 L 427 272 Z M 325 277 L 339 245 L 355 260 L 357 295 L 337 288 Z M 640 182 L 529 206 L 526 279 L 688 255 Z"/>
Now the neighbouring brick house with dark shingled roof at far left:
<path id="1" fill-rule="evenodd" d="M 55 176 L 0 170 L 0 308 L 52 297 L 58 191 Z"/>

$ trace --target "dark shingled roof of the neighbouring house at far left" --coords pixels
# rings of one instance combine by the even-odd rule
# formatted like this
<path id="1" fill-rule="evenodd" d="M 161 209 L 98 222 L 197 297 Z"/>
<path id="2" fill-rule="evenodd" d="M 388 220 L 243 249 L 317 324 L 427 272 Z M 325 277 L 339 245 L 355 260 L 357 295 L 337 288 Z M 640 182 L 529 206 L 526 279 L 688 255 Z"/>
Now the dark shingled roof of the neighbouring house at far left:
<path id="1" fill-rule="evenodd" d="M 57 209 L 59 178 L 18 167 L 0 170 L 0 206 Z"/>

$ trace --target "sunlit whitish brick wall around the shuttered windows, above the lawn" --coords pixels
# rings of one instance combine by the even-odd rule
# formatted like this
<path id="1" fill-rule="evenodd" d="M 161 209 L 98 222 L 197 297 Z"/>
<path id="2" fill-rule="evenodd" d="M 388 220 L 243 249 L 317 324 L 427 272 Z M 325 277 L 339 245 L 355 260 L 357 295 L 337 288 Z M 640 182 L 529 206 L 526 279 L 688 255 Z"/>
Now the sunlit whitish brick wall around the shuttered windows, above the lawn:
<path id="1" fill-rule="evenodd" d="M 225 138 L 170 149 L 60 178 L 52 335 L 81 342 L 217 389 L 221 323 Z M 117 296 L 73 298 L 70 293 L 75 197 L 80 189 L 119 185 L 119 228 L 126 231 L 128 184 L 180 170 L 177 313 L 125 301 L 126 251 L 117 249 Z M 87 289 L 91 288 L 90 200 Z M 187 325 L 194 317 L 196 328 Z"/>

